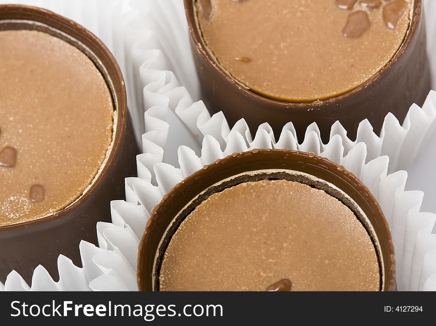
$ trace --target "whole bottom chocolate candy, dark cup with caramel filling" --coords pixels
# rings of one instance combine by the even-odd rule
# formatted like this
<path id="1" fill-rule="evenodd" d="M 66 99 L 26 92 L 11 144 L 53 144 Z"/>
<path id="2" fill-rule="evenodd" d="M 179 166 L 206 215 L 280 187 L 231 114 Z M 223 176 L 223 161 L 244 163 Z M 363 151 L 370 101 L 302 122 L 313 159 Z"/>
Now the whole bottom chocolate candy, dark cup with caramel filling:
<path id="1" fill-rule="evenodd" d="M 290 150 L 235 153 L 183 180 L 153 210 L 138 253 L 140 290 L 289 290 L 292 280 L 292 290 L 386 291 L 394 279 L 370 191 Z"/>

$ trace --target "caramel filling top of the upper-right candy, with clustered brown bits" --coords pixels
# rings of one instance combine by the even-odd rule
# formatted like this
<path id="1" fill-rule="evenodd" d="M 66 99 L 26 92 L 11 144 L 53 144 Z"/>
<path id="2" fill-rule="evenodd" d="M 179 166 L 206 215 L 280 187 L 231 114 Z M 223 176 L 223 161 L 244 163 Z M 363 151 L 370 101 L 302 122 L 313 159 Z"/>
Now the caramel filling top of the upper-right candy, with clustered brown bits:
<path id="1" fill-rule="evenodd" d="M 347 93 L 389 63 L 413 0 L 198 0 L 210 53 L 253 92 L 311 102 Z M 225 96 L 225 94 L 223 94 Z"/>

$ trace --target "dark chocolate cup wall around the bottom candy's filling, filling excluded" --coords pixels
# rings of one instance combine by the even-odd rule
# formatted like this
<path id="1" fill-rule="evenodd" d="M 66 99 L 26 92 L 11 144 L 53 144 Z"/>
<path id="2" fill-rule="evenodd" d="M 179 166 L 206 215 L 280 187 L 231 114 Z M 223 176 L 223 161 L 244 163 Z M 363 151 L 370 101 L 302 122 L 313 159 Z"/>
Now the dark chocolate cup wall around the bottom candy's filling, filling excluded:
<path id="1" fill-rule="evenodd" d="M 244 175 L 244 173 L 250 171 L 271 169 L 292 170 L 300 172 L 300 174 L 293 177 L 291 174 L 283 172 L 265 172 L 263 175 L 255 176 Z M 301 175 L 301 172 L 314 176 L 318 180 Z M 243 175 L 216 186 L 222 180 L 240 174 Z M 360 218 L 363 216 L 360 212 L 363 211 L 371 225 L 361 219 L 362 224 L 366 227 L 373 243 L 375 243 L 379 263 L 382 267 L 381 289 L 384 291 L 395 290 L 395 262 L 392 238 L 382 209 L 369 189 L 352 173 L 326 158 L 315 156 L 313 153 L 286 149 L 256 149 L 227 156 L 197 171 L 176 185 L 168 195 L 164 196 L 162 201 L 154 208 L 139 245 L 137 269 L 139 290 L 159 290 L 159 270 L 165 249 L 180 223 L 201 201 L 213 193 L 222 191 L 237 183 L 265 179 L 286 179 L 302 182 L 322 189 L 329 195 L 336 197 Z M 343 193 L 338 192 L 337 189 L 327 186 L 326 182 L 337 187 L 348 197 L 343 196 Z M 199 194 L 201 195 L 193 200 Z M 354 203 L 349 198 L 354 200 Z"/>

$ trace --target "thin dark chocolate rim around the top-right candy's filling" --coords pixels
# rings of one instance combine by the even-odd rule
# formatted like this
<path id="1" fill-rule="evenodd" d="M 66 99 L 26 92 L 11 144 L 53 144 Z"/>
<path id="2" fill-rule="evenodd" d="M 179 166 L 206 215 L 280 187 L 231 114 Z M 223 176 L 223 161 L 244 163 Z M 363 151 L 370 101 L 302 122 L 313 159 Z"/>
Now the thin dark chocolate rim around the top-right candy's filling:
<path id="1" fill-rule="evenodd" d="M 275 100 L 270 97 L 262 96 L 259 93 L 252 91 L 250 88 L 239 82 L 233 76 L 231 76 L 225 69 L 218 63 L 218 60 L 214 59 L 211 55 L 211 50 L 205 44 L 203 37 L 200 33 L 200 27 L 198 26 L 198 21 L 196 17 L 196 9 L 194 6 L 194 2 L 197 0 L 183 0 L 185 6 L 185 13 L 188 21 L 188 29 L 191 37 L 193 38 L 197 52 L 203 57 L 203 59 L 207 62 L 207 64 L 215 69 L 222 77 L 224 77 L 232 86 L 237 87 L 241 92 L 245 94 L 245 96 L 253 97 L 259 101 L 265 101 L 273 105 L 278 105 L 278 108 L 285 110 L 296 110 L 299 111 L 307 111 L 309 109 L 313 109 L 317 106 L 323 106 L 326 104 L 336 104 L 337 102 L 341 102 L 343 99 L 348 98 L 349 96 L 353 96 L 355 93 L 358 93 L 372 84 L 374 81 L 382 77 L 383 75 L 389 73 L 389 68 L 401 57 L 406 51 L 407 46 L 413 38 L 413 35 L 416 33 L 417 26 L 421 20 L 421 8 L 422 8 L 422 0 L 414 0 L 413 3 L 413 11 L 411 13 L 411 22 L 409 25 L 409 29 L 407 30 L 406 36 L 403 40 L 398 51 L 392 57 L 392 59 L 385 65 L 380 71 L 378 71 L 374 76 L 372 76 L 365 83 L 357 86 L 356 88 L 343 93 L 341 95 L 331 97 L 325 100 L 316 100 L 312 102 L 285 102 L 280 100 Z M 243 87 L 241 87 L 243 86 Z"/>

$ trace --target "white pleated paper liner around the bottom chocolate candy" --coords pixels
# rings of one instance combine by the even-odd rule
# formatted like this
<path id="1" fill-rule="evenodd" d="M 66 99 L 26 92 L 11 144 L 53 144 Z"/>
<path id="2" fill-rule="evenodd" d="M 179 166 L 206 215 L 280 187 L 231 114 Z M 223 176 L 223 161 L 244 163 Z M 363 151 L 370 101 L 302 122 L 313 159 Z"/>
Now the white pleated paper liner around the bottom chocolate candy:
<path id="1" fill-rule="evenodd" d="M 136 290 L 137 248 L 153 207 L 173 186 L 205 164 L 252 148 L 289 148 L 314 152 L 354 173 L 376 196 L 390 225 L 395 246 L 398 289 L 435 289 L 433 279 L 436 266 L 433 258 L 436 235 L 432 234 L 432 230 L 436 215 L 420 212 L 421 192 L 404 191 L 407 178 L 404 171 L 387 174 L 387 156 L 365 163 L 368 151 L 364 142 L 353 145 L 344 155 L 342 138 L 338 134 L 323 149 L 314 131 L 308 134 L 305 142 L 298 144 L 295 134 L 288 128 L 276 142 L 266 125 L 259 128 L 253 140 L 247 139 L 238 130 L 230 130 L 225 138 L 225 147 L 222 149 L 218 139 L 205 136 L 200 156 L 193 149 L 180 146 L 179 168 L 161 162 L 160 153 L 146 152 L 140 155 L 138 160 L 148 156 L 157 163 L 153 164 L 152 169 L 140 165 L 143 178 L 127 180 L 129 200 L 112 201 L 112 223 L 97 225 L 100 248 L 82 242 L 83 268 L 75 267 L 60 257 L 58 283 L 53 282 L 43 267 L 38 267 L 32 280 L 32 290 L 87 289 L 88 285 L 92 290 Z M 165 142 L 163 147 L 154 144 L 164 151 Z M 156 183 L 152 180 L 156 180 Z M 12 273 L 5 289 L 28 289 L 28 286 L 19 275 Z"/>

